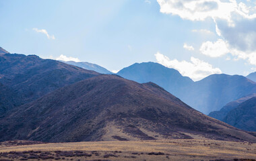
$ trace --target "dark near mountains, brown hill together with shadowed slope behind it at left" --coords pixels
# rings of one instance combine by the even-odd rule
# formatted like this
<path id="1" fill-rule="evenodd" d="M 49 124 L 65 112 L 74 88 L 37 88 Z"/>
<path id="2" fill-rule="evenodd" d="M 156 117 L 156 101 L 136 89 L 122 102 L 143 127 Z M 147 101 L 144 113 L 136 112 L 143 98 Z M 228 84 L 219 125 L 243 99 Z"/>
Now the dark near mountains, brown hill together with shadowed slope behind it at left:
<path id="1" fill-rule="evenodd" d="M 251 133 L 196 111 L 154 83 L 141 84 L 34 55 L 1 54 L 0 62 L 0 93 L 6 94 L 0 97 L 1 105 L 5 103 L 1 141 L 200 137 L 256 142 Z"/>

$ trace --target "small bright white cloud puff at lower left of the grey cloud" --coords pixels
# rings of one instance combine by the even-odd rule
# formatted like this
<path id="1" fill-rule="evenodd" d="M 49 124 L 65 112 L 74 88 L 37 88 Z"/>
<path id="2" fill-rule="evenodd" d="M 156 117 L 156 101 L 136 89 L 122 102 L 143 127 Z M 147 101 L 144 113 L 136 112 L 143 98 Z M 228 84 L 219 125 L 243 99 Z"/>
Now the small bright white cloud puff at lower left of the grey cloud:
<path id="1" fill-rule="evenodd" d="M 229 52 L 226 42 L 222 39 L 219 39 L 216 42 L 203 42 L 199 50 L 202 54 L 214 58 L 223 56 Z"/>

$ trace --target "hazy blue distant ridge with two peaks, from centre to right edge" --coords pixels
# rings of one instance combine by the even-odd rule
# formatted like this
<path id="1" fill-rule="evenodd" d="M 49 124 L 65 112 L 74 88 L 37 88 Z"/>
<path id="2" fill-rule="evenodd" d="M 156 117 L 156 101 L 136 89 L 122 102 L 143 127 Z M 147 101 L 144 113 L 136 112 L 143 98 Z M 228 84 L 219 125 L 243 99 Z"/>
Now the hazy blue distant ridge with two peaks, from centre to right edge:
<path id="1" fill-rule="evenodd" d="M 256 83 L 245 76 L 212 74 L 193 82 L 177 70 L 154 62 L 135 63 L 117 74 L 139 83 L 156 83 L 205 114 L 220 110 L 230 101 L 256 93 Z"/>

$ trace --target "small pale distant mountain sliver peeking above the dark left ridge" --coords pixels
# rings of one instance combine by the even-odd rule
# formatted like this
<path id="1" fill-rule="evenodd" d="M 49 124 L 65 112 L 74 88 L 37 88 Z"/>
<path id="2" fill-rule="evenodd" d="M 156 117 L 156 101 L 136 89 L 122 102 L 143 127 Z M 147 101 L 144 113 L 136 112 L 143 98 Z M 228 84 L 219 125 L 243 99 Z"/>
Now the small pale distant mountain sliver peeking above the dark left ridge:
<path id="1" fill-rule="evenodd" d="M 65 62 L 65 61 L 61 61 Z M 102 73 L 102 74 L 113 74 L 113 72 L 108 71 L 106 68 L 103 68 L 102 66 L 99 66 L 97 64 L 92 64 L 90 62 L 73 62 L 73 61 L 68 61 L 65 62 L 67 64 L 71 64 L 73 66 L 78 66 L 80 68 L 84 68 L 87 70 L 94 70 L 96 72 Z"/>

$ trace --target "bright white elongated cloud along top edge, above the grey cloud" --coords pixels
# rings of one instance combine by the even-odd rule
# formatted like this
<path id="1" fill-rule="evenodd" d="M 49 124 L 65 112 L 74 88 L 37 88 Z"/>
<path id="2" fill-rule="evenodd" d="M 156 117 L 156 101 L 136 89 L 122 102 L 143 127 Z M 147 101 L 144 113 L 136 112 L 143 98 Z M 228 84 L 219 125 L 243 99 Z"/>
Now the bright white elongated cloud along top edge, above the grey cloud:
<path id="1" fill-rule="evenodd" d="M 246 18 L 255 18 L 256 14 L 245 3 L 237 3 L 236 0 L 157 0 L 160 12 L 179 15 L 183 19 L 191 21 L 203 21 L 207 17 L 212 19 L 226 19 L 232 24 L 232 14 L 238 13 Z"/>

